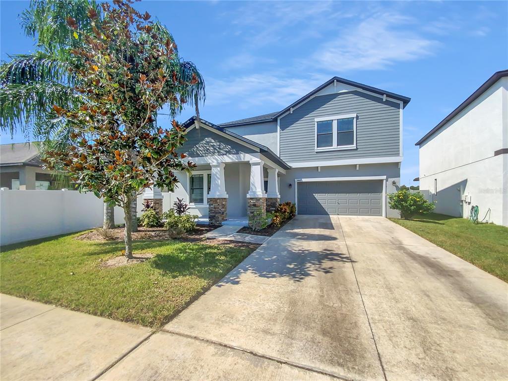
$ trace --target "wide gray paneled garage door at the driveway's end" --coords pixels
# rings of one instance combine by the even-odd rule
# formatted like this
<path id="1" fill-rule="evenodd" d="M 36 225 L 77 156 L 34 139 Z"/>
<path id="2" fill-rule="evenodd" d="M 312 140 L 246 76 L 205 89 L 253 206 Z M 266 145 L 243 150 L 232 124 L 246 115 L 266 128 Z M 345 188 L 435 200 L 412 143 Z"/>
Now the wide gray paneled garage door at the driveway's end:
<path id="1" fill-rule="evenodd" d="M 383 215 L 383 181 L 298 183 L 298 214 Z"/>

